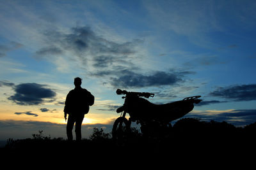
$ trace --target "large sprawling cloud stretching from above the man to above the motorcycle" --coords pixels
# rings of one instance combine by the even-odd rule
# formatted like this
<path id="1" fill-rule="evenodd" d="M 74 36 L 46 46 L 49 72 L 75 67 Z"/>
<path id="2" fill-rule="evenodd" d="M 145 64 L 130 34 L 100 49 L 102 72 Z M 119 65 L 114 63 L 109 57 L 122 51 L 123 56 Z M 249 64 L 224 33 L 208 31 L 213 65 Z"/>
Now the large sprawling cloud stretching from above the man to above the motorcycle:
<path id="1" fill-rule="evenodd" d="M 143 41 L 114 41 L 97 35 L 90 27 L 73 27 L 68 32 L 46 31 L 48 46 L 36 55 L 72 55 L 90 76 L 100 78 L 112 87 L 141 88 L 175 85 L 188 71 L 147 71 L 140 66 L 138 45 Z M 49 47 L 50 46 L 50 47 Z"/>

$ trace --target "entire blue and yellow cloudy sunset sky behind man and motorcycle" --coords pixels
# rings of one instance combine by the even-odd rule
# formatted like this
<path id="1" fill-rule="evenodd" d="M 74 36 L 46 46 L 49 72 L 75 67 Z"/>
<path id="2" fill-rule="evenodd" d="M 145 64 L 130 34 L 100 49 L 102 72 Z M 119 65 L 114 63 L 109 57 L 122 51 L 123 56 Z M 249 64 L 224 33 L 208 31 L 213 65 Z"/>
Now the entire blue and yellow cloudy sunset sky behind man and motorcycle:
<path id="1" fill-rule="evenodd" d="M 256 122 L 255 1 L 0 0 L 0 140 L 65 138 L 74 78 L 95 104 L 83 121 L 111 131 L 124 99 L 202 96 L 186 117 Z"/>

